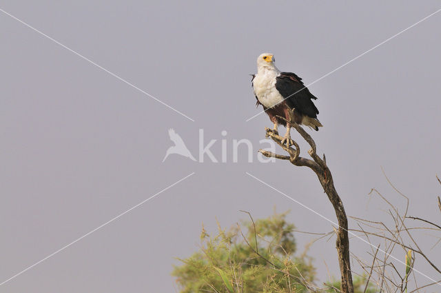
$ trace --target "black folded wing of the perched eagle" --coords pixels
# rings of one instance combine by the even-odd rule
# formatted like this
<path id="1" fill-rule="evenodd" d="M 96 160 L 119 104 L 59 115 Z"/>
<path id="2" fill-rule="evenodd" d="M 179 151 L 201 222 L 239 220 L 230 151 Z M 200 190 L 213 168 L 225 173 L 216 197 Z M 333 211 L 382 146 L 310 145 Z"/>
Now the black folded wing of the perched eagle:
<path id="1" fill-rule="evenodd" d="M 276 77 L 276 89 L 286 99 L 289 108 L 295 108 L 300 114 L 306 114 L 311 118 L 317 118 L 318 109 L 312 102 L 317 98 L 309 92 L 297 74 L 280 72 Z"/>

